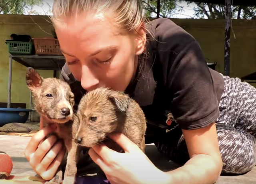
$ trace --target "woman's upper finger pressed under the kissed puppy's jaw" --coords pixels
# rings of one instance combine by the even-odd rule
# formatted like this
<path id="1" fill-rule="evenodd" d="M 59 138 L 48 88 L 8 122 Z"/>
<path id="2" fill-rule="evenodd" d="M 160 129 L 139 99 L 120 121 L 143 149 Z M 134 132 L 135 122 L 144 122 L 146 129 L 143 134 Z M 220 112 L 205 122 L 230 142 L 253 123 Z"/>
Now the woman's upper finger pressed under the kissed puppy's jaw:
<path id="1" fill-rule="evenodd" d="M 138 150 L 138 146 L 134 144 L 128 137 L 124 134 L 112 134 L 109 137 L 114 140 L 125 152 L 130 152 L 134 150 Z"/>

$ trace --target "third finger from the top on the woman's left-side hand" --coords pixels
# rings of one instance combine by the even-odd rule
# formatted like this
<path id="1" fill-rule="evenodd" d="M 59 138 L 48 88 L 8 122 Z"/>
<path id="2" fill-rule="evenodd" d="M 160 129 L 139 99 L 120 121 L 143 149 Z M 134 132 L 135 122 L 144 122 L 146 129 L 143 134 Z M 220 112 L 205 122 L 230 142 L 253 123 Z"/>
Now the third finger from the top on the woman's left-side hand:
<path id="1" fill-rule="evenodd" d="M 44 158 L 41 161 L 41 165 L 43 168 L 48 168 L 52 161 L 56 158 L 58 153 L 62 150 L 62 142 L 58 141 L 52 149 L 49 150 L 49 152 L 44 156 Z"/>

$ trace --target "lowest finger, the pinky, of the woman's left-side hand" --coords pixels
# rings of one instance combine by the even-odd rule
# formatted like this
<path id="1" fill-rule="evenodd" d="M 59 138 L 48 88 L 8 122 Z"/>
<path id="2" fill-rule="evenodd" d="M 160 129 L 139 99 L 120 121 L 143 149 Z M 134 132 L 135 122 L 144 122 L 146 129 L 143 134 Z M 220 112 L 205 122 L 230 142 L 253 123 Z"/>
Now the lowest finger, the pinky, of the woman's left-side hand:
<path id="1" fill-rule="evenodd" d="M 40 175 L 44 180 L 50 180 L 54 177 L 54 175 L 56 174 L 56 171 L 58 170 L 58 167 L 60 166 L 60 163 L 62 162 L 62 160 L 65 156 L 65 154 L 66 154 L 66 147 L 62 146 L 62 150 L 58 153 L 56 158 L 53 160 L 53 162 L 47 168 L 46 172 L 44 172 Z"/>

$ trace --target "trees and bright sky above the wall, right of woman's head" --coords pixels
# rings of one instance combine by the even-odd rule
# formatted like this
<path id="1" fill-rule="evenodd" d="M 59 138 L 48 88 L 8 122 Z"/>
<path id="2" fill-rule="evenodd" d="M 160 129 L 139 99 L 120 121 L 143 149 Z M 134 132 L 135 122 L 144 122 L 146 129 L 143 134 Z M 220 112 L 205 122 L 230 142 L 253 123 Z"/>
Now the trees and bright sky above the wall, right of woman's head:
<path id="1" fill-rule="evenodd" d="M 156 17 L 157 0 L 142 0 L 146 9 L 147 17 Z M 225 18 L 225 5 L 210 3 L 187 2 L 186 0 L 160 0 L 160 17 L 175 18 L 177 15 L 186 15 L 186 7 L 194 10 L 190 18 Z M 233 19 L 256 19 L 256 7 L 232 6 Z M 182 14 L 183 13 L 183 14 Z"/>

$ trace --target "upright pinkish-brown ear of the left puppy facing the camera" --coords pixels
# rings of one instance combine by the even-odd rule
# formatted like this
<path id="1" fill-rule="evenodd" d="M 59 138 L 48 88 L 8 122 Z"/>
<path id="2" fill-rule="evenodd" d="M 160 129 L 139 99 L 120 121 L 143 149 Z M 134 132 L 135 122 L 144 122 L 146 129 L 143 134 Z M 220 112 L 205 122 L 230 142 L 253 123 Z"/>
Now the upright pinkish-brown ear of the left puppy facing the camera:
<path id="1" fill-rule="evenodd" d="M 28 71 L 26 73 L 26 83 L 28 89 L 34 90 L 36 87 L 42 85 L 43 78 L 39 75 L 39 73 L 32 67 L 28 67 Z"/>

